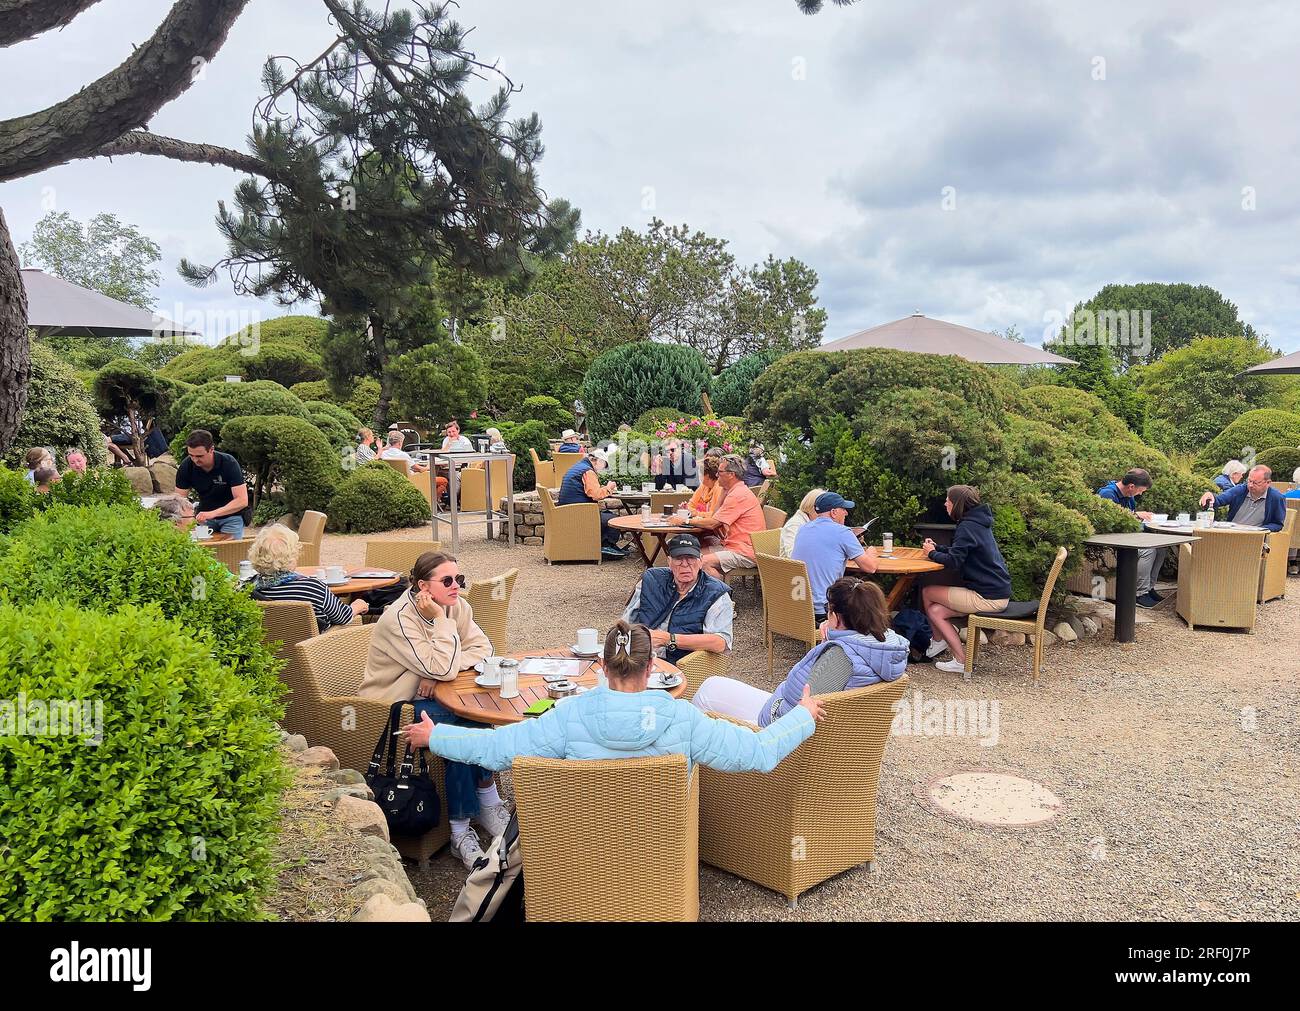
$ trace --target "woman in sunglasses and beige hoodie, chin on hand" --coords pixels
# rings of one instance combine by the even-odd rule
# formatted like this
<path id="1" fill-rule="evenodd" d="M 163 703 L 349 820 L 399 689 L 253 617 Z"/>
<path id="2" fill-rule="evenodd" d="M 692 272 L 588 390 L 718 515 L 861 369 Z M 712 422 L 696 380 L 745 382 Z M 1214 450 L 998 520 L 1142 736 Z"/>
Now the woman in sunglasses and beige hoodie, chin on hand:
<path id="1" fill-rule="evenodd" d="M 452 681 L 485 656 L 491 642 L 474 624 L 469 602 L 460 596 L 465 577 L 456 559 L 426 551 L 411 569 L 411 587 L 385 608 L 370 634 L 365 678 L 358 695 L 387 703 L 411 699 L 416 717 L 428 713 L 437 723 L 480 726 L 464 720 L 433 697 L 439 681 Z M 510 821 L 491 772 L 459 761 L 447 763 L 447 817 L 451 851 L 465 867 L 482 855 L 482 843 L 469 821 L 499 836 Z"/>

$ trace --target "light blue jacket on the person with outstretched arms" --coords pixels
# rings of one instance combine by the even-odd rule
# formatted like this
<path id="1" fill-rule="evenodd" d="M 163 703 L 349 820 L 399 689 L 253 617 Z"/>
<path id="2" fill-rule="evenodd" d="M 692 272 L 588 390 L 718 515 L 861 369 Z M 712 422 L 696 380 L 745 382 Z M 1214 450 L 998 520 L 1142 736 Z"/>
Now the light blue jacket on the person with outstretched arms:
<path id="1" fill-rule="evenodd" d="M 802 706 L 763 730 L 714 720 L 666 691 L 594 687 L 537 719 L 495 730 L 438 724 L 429 750 L 451 761 L 508 769 L 516 755 L 566 759 L 685 755 L 722 772 L 771 772 L 812 736 Z"/>

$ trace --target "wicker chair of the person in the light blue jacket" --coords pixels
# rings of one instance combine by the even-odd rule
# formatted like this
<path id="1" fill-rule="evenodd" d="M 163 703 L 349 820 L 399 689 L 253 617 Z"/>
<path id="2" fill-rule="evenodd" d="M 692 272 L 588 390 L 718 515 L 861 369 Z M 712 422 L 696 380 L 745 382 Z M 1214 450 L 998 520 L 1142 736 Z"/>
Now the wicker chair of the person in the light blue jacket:
<path id="1" fill-rule="evenodd" d="M 699 919 L 699 773 L 684 755 L 517 758 L 514 772 L 529 920 Z"/>

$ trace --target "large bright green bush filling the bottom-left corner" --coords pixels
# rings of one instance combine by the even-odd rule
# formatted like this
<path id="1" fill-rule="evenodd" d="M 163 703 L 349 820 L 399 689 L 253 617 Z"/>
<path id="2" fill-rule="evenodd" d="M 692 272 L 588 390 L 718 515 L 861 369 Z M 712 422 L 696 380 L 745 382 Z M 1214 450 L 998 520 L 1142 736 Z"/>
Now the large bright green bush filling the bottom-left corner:
<path id="1" fill-rule="evenodd" d="M 187 625 L 3 604 L 0 699 L 0 920 L 263 916 L 278 736 Z"/>

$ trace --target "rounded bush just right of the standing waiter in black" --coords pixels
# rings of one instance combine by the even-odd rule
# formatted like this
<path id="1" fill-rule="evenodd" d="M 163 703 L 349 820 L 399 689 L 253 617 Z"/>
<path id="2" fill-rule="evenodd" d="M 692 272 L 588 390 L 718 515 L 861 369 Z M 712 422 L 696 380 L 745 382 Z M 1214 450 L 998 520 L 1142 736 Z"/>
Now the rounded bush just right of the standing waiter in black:
<path id="1" fill-rule="evenodd" d="M 325 434 L 306 418 L 280 415 L 231 418 L 222 429 L 221 448 L 252 473 L 255 508 L 278 483 L 290 512 L 324 512 L 343 477 L 342 451 L 330 446 Z"/>

